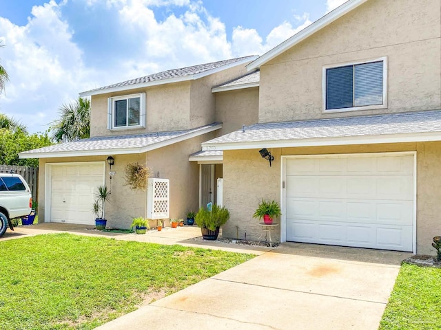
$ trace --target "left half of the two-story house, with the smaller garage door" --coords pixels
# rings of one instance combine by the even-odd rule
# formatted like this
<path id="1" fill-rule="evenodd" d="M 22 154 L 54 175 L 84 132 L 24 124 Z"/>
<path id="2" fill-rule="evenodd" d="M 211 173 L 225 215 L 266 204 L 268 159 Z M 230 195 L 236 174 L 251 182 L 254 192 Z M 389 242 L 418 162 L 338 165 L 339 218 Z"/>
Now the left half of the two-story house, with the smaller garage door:
<path id="1" fill-rule="evenodd" d="M 147 216 L 148 193 L 127 186 L 130 163 L 169 180 L 168 218 L 198 210 L 200 186 L 211 187 L 222 176 L 221 161 L 205 166 L 212 157 L 197 154 L 201 143 L 257 121 L 257 105 L 254 114 L 232 113 L 233 108 L 216 113 L 212 87 L 246 75 L 245 65 L 257 57 L 172 69 L 81 93 L 91 98 L 90 138 L 20 154 L 40 159 L 39 221 L 93 225 L 96 189 L 105 184 L 111 191 L 107 226 L 129 228 L 134 217 Z M 223 124 L 226 118 L 231 120 Z M 203 192 L 214 201 L 216 191 Z"/>

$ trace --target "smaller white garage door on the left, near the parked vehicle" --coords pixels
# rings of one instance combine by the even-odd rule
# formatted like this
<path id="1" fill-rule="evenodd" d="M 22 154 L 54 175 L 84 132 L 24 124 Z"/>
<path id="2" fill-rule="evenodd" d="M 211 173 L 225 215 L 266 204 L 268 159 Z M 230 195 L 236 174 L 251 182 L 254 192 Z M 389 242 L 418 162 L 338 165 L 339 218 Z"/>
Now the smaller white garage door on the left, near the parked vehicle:
<path id="1" fill-rule="evenodd" d="M 104 163 L 52 164 L 51 167 L 50 221 L 93 225 L 94 192 L 104 183 Z"/>

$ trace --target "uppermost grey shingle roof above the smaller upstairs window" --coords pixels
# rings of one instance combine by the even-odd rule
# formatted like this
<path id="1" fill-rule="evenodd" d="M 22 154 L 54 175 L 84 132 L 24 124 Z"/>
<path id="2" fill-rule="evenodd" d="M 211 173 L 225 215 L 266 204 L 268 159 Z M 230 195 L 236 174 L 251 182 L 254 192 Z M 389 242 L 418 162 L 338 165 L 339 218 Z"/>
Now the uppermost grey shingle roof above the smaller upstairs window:
<path id="1" fill-rule="evenodd" d="M 218 61 L 218 62 L 212 62 L 212 63 L 205 63 L 200 65 L 193 65 L 191 67 L 182 67 L 180 69 L 171 69 L 163 72 L 158 72 L 156 74 L 150 74 L 149 76 L 143 76 L 136 79 L 126 80 L 122 83 L 116 83 L 112 85 L 108 85 L 105 87 L 99 87 L 96 89 L 92 89 L 90 91 L 85 91 L 81 94 L 88 94 L 92 91 L 103 91 L 105 89 L 114 89 L 118 87 L 126 87 L 130 85 L 138 85 L 143 83 L 151 83 L 159 80 L 168 80 L 172 78 L 182 78 L 185 76 L 192 76 L 196 74 L 202 74 L 203 72 L 209 72 L 210 70 L 218 69 L 220 67 L 224 67 L 225 65 L 234 64 L 239 61 L 247 60 L 251 61 L 252 59 L 256 58 L 257 56 L 244 56 L 239 58 L 231 58 L 229 60 L 225 61 Z"/>

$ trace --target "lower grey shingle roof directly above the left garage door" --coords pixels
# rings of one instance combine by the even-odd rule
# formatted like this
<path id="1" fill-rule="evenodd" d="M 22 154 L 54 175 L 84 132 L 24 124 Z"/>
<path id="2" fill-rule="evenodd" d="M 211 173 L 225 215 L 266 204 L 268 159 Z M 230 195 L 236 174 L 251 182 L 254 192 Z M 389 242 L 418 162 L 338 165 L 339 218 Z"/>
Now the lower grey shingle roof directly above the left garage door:
<path id="1" fill-rule="evenodd" d="M 40 157 L 57 157 L 60 153 L 63 155 L 72 153 L 73 156 L 79 155 L 79 153 L 99 153 L 101 151 L 112 151 L 116 154 L 117 151 L 121 151 L 121 153 L 131 153 L 131 151 L 132 153 L 136 153 L 143 152 L 143 148 L 150 147 L 150 150 L 152 150 L 155 146 L 160 147 L 162 144 L 172 144 L 174 142 L 185 140 L 187 137 L 207 133 L 207 131 L 214 131 L 218 128 L 220 128 L 220 123 L 215 122 L 207 126 L 183 131 L 90 137 L 88 139 L 54 144 L 52 146 L 24 151 L 19 155 L 23 158 L 28 158 L 33 157 L 34 155 L 39 155 Z"/>

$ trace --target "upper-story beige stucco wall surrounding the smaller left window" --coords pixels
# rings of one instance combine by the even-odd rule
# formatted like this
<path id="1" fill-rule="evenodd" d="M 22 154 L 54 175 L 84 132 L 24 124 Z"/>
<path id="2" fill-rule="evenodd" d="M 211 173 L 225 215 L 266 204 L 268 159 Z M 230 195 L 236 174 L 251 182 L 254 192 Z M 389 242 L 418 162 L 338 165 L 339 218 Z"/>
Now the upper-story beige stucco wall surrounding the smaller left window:
<path id="1" fill-rule="evenodd" d="M 182 83 L 172 83 L 92 96 L 90 136 L 192 129 L 215 121 L 212 87 L 246 73 L 245 65 Z M 107 129 L 107 98 L 145 93 L 145 129 Z"/>

